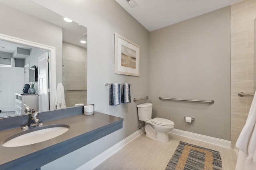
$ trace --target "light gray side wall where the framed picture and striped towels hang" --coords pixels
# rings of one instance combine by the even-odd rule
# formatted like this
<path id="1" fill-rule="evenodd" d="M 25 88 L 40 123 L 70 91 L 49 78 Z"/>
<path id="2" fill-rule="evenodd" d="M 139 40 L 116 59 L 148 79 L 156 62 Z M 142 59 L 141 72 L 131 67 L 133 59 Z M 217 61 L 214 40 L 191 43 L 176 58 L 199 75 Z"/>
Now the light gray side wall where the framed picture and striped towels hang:
<path id="1" fill-rule="evenodd" d="M 116 143 L 138 127 L 138 103 L 109 106 L 109 86 L 105 83 L 131 83 L 131 98 L 143 98 L 149 92 L 149 31 L 128 14 L 115 0 L 38 1 L 46 8 L 88 28 L 87 90 L 88 104 L 95 110 L 124 118 L 123 128 L 81 149 L 43 166 L 42 170 L 75 169 Z M 61 5 L 60 5 L 61 4 Z M 114 73 L 114 33 L 140 45 L 140 76 Z M 142 101 L 145 102 L 145 101 Z"/>

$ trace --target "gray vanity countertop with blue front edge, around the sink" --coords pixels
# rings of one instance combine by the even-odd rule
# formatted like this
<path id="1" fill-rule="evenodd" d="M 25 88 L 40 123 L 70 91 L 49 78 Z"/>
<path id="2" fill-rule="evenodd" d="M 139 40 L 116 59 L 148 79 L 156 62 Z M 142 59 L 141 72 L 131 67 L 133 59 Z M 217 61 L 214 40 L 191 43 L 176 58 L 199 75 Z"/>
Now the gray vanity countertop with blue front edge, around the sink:
<path id="1" fill-rule="evenodd" d="M 93 115 L 79 114 L 44 122 L 44 125 L 66 124 L 70 126 L 70 129 L 58 137 L 32 145 L 21 147 L 0 145 L 0 169 L 40 168 L 44 164 L 121 129 L 123 120 L 120 117 L 95 111 Z M 10 135 L 22 131 L 24 130 L 20 127 L 0 131 L 1 144 Z"/>

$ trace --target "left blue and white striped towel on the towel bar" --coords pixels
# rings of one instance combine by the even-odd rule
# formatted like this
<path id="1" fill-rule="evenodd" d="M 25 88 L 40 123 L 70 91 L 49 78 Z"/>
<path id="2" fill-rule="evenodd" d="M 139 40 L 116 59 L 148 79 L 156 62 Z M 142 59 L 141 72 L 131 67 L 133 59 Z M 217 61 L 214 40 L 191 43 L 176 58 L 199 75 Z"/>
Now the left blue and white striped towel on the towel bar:
<path id="1" fill-rule="evenodd" d="M 112 83 L 110 85 L 110 106 L 120 105 L 120 84 Z"/>

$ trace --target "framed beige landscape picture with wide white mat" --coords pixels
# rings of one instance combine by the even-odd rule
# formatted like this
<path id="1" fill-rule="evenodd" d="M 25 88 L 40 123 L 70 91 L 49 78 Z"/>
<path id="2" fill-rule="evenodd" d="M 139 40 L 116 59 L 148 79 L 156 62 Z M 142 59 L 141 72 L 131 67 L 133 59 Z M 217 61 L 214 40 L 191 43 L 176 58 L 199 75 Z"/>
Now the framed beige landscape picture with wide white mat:
<path id="1" fill-rule="evenodd" d="M 115 73 L 140 76 L 140 46 L 115 33 Z"/>

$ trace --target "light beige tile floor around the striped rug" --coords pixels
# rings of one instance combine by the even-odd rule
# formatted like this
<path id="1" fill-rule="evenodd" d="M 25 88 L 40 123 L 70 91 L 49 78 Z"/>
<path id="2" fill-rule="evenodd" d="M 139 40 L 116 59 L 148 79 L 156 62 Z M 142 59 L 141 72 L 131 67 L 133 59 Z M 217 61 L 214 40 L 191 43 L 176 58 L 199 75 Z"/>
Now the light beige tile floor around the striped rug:
<path id="1" fill-rule="evenodd" d="M 235 169 L 237 156 L 234 149 L 174 134 L 170 134 L 169 139 L 169 143 L 159 143 L 142 133 L 94 170 L 164 170 L 180 141 L 219 151 L 222 169 Z"/>

